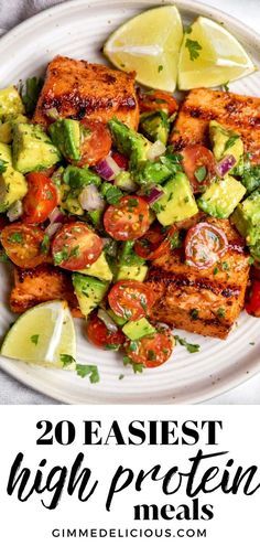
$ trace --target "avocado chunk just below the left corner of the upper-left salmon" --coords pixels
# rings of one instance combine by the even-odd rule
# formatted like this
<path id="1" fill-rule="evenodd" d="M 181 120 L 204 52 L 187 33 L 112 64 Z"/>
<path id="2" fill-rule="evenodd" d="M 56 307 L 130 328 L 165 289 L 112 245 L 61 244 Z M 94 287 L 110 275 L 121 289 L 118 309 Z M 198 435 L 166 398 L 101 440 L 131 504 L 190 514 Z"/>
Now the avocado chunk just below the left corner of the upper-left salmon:
<path id="1" fill-rule="evenodd" d="M 13 127 L 13 167 L 26 173 L 47 169 L 61 161 L 61 154 L 40 125 L 15 124 Z"/>

